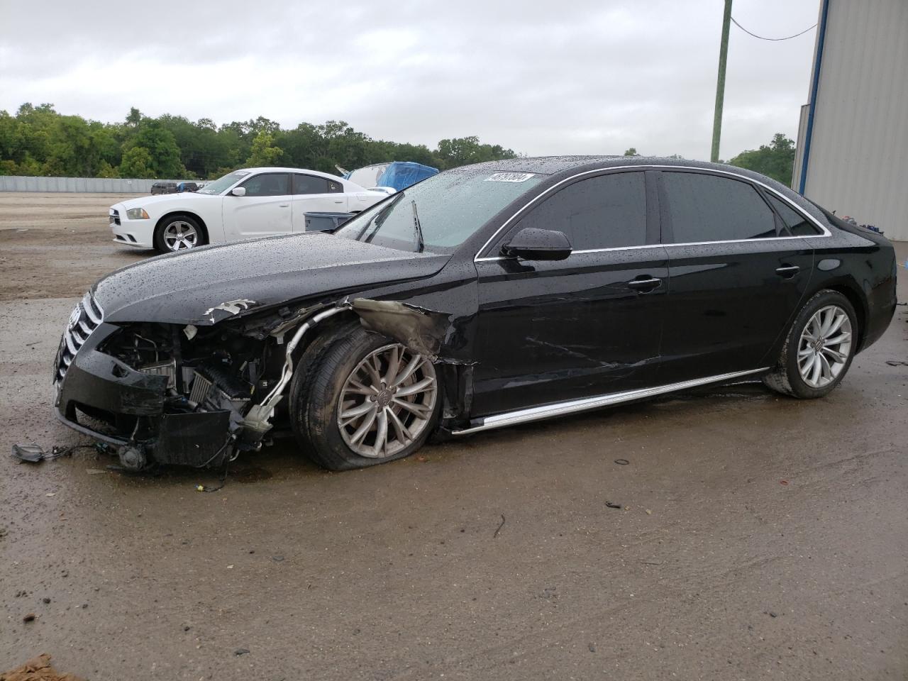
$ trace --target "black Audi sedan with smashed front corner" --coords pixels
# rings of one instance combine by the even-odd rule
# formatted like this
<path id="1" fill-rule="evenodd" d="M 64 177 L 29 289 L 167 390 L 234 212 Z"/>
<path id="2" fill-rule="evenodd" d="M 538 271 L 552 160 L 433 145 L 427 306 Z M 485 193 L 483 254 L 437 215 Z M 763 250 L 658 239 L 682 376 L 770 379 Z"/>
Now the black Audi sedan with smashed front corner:
<path id="1" fill-rule="evenodd" d="M 288 425 L 350 469 L 711 383 L 823 397 L 894 307 L 886 239 L 757 173 L 480 163 L 333 234 L 114 271 L 66 325 L 55 411 L 133 469 L 219 465 Z"/>

